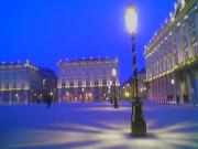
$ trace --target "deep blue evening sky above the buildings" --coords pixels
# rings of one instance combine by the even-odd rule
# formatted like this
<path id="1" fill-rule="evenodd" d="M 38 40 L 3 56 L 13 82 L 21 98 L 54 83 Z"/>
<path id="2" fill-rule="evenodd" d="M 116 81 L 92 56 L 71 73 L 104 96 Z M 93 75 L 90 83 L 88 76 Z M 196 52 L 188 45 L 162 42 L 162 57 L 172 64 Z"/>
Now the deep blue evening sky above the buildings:
<path id="1" fill-rule="evenodd" d="M 132 74 L 124 12 L 130 0 L 1 0 L 0 61 L 29 58 L 57 71 L 57 60 L 118 56 L 121 82 Z M 176 0 L 135 0 L 138 66 L 143 50 Z"/>

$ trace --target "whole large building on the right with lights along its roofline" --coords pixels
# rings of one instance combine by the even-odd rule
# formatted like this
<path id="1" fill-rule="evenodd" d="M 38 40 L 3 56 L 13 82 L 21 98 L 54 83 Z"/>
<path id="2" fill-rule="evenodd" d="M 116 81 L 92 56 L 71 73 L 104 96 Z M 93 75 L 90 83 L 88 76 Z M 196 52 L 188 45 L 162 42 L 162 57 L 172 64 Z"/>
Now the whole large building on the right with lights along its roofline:
<path id="1" fill-rule="evenodd" d="M 198 1 L 179 0 L 144 52 L 151 99 L 198 100 Z"/>

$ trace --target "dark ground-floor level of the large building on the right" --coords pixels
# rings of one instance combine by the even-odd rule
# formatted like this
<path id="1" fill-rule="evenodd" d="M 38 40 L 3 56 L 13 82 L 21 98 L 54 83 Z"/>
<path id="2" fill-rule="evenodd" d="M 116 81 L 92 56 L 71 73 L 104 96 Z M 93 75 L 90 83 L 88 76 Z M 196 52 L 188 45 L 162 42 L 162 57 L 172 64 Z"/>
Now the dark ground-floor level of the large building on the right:
<path id="1" fill-rule="evenodd" d="M 183 67 L 172 74 L 150 82 L 148 98 L 153 100 L 173 100 L 198 103 L 198 65 Z"/>

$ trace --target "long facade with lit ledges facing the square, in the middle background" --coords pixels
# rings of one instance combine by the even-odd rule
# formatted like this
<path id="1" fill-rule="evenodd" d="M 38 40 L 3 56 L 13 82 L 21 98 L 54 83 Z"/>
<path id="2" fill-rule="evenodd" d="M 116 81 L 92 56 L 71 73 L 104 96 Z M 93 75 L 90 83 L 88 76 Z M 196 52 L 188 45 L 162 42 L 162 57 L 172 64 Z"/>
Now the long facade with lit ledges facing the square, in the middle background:
<path id="1" fill-rule="evenodd" d="M 112 84 L 118 87 L 118 60 L 87 58 L 58 62 L 58 100 L 81 102 L 107 99 Z M 117 75 L 112 76 L 112 70 Z"/>

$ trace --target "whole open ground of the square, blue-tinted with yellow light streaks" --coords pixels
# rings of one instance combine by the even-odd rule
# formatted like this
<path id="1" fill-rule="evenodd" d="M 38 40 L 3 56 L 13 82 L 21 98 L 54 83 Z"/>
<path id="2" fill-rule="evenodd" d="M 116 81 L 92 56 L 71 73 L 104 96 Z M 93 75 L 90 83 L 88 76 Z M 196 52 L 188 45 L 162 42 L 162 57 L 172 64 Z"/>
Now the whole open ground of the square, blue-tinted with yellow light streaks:
<path id="1" fill-rule="evenodd" d="M 146 137 L 130 135 L 131 104 L 0 106 L 0 149 L 198 149 L 198 108 L 144 105 Z"/>

